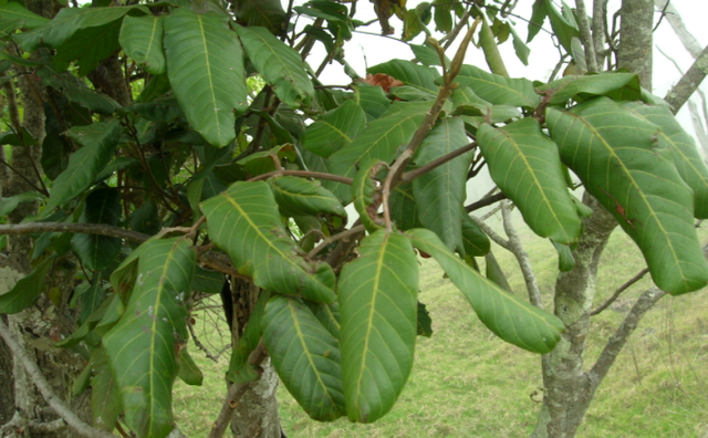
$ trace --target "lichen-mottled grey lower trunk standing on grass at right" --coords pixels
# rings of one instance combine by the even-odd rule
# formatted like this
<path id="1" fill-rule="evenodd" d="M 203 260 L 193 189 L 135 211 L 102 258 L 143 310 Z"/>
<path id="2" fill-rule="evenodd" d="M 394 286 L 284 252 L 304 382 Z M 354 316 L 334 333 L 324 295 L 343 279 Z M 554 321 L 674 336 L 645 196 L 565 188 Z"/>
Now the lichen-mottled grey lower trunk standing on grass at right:
<path id="1" fill-rule="evenodd" d="M 585 232 L 573 250 L 575 267 L 562 272 L 555 283 L 555 315 L 566 328 L 555 350 L 542 357 L 543 405 L 532 437 L 572 437 L 593 396 L 583 356 L 597 263 L 617 222 L 590 195 L 585 194 L 584 202 L 593 216 L 584 220 Z"/>

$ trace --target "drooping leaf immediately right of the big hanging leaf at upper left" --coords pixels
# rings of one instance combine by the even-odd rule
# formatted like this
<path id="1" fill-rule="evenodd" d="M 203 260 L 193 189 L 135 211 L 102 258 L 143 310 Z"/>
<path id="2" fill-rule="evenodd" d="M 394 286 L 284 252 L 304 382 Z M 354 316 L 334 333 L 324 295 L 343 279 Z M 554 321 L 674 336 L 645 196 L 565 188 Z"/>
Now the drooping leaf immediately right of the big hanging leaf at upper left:
<path id="1" fill-rule="evenodd" d="M 291 108 L 306 105 L 314 96 L 300 53 L 285 45 L 264 28 L 236 28 L 249 60 L 282 103 Z"/>

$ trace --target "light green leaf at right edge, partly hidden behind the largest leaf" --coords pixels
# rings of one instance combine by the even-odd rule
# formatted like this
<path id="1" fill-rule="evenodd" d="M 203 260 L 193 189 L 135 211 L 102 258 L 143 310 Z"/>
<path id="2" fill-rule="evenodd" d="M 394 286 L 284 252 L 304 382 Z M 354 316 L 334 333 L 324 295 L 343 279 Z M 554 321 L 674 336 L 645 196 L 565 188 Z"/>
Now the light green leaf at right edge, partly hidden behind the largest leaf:
<path id="1" fill-rule="evenodd" d="M 666 142 L 678 174 L 694 190 L 694 217 L 708 219 L 708 169 L 694 137 L 688 135 L 667 106 L 627 103 L 626 108 L 662 128 L 660 138 Z"/>

